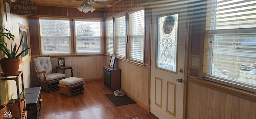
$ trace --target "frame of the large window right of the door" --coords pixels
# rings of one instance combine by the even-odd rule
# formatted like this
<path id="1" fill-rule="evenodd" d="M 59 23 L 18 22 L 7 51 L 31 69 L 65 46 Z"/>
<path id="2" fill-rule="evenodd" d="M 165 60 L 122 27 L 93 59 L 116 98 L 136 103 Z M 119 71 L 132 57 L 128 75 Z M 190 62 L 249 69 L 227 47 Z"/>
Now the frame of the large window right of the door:
<path id="1" fill-rule="evenodd" d="M 239 3 L 240 2 L 238 2 L 237 4 L 239 4 Z M 212 3 L 210 3 L 210 4 L 212 4 Z M 207 4 L 207 6 L 209 6 L 209 5 Z M 207 10 L 211 10 L 211 9 L 207 8 Z M 212 13 L 212 10 L 207 11 L 207 14 L 211 14 L 211 13 Z M 206 15 L 206 18 L 207 18 L 207 15 Z M 210 17 L 208 17 L 208 18 L 210 18 Z M 216 21 L 214 21 L 214 23 L 215 22 Z M 230 87 L 234 87 L 234 88 L 238 88 L 238 89 L 242 89 L 242 90 L 246 90 L 246 91 L 249 91 L 249 92 L 256 93 L 255 84 L 249 84 L 249 83 L 246 83 L 246 82 L 242 82 L 242 81 L 239 81 L 239 79 L 236 79 L 236 78 L 225 78 L 225 77 L 221 77 L 221 76 L 218 76 L 216 74 L 213 74 L 213 72 L 212 72 L 212 67 L 213 67 L 212 66 L 212 58 L 208 58 L 208 57 L 211 57 L 211 56 L 208 56 L 208 55 L 213 53 L 213 52 L 210 51 L 210 49 L 214 49 L 213 47 L 216 46 L 216 45 L 210 45 L 212 43 L 210 42 L 210 40 L 207 40 L 210 35 L 219 35 L 219 34 L 222 34 L 222 33 L 228 33 L 230 35 L 236 34 L 236 33 L 252 33 L 252 30 L 255 31 L 256 27 L 252 27 L 252 28 L 239 28 L 238 27 L 238 28 L 232 28 L 232 29 L 228 29 L 228 28 L 226 28 L 226 29 L 210 29 L 209 27 L 213 27 L 213 25 L 209 25 L 211 23 L 212 22 L 209 19 L 206 19 L 204 51 L 207 50 L 208 52 L 204 53 L 204 65 L 206 67 L 206 68 L 204 68 L 204 71 L 203 71 L 204 80 L 209 80 L 209 81 L 216 82 L 216 83 L 219 83 L 219 84 L 224 84 L 226 86 L 230 86 Z M 207 25 L 209 25 L 209 26 L 207 27 Z M 218 26 L 218 25 L 214 25 L 214 26 Z M 211 38 L 216 39 L 215 37 L 211 37 Z M 226 61 L 226 62 L 228 62 L 228 61 Z"/>

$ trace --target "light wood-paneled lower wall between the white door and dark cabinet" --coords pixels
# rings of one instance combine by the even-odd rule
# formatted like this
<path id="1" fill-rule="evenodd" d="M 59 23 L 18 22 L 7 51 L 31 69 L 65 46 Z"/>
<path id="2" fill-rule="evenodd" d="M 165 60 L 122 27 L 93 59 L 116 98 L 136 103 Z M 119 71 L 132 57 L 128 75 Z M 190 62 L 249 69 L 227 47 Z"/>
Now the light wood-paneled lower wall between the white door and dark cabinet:
<path id="1" fill-rule="evenodd" d="M 110 56 L 106 56 L 109 65 Z M 117 59 L 115 67 L 121 69 L 121 90 L 149 112 L 149 69 Z"/>

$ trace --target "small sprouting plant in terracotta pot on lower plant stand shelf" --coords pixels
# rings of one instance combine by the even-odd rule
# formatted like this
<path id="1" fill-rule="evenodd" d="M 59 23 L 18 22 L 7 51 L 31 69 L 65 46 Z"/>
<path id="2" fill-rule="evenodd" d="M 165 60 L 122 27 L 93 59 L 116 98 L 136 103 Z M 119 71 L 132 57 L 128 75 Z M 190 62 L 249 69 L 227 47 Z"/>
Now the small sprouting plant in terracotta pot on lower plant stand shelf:
<path id="1" fill-rule="evenodd" d="M 24 102 L 25 102 L 25 99 L 23 98 L 24 94 L 25 94 L 25 90 L 22 88 L 22 92 L 20 94 L 20 110 L 21 110 L 21 113 L 23 111 Z M 11 112 L 12 118 L 15 118 L 15 117 L 19 117 L 20 113 L 19 113 L 19 108 L 18 108 L 18 99 L 13 99 L 12 98 L 13 95 L 14 95 L 14 93 L 12 93 L 10 100 L 4 102 L 4 105 L 6 106 L 7 111 Z"/>

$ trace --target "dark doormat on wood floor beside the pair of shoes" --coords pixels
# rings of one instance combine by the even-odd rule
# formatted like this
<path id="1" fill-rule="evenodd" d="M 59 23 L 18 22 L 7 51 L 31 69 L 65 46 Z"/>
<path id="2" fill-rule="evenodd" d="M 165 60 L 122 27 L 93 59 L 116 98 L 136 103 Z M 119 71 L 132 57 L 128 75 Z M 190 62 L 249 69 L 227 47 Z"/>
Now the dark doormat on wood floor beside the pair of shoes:
<path id="1" fill-rule="evenodd" d="M 120 106 L 120 105 L 128 105 L 132 103 L 136 103 L 134 100 L 132 100 L 130 97 L 127 95 L 124 96 L 115 96 L 113 94 L 105 94 L 105 96 L 115 105 L 115 106 Z"/>

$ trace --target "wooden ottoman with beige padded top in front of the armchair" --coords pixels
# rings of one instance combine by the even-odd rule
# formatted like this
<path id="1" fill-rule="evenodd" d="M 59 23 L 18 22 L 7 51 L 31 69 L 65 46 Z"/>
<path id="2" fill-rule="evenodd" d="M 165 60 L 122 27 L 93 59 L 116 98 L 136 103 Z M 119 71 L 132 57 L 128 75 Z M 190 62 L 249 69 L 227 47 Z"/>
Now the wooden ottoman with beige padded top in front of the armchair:
<path id="1" fill-rule="evenodd" d="M 84 79 L 69 77 L 59 81 L 60 94 L 73 98 L 74 95 L 84 93 Z"/>

